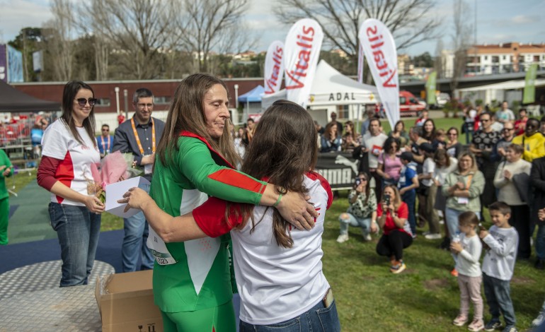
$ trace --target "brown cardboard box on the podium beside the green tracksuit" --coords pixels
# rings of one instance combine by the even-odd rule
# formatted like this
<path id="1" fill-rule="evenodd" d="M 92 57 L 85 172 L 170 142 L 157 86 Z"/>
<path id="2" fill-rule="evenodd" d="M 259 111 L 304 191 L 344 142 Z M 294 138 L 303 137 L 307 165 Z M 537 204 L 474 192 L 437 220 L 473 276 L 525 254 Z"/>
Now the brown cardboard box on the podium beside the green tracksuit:
<path id="1" fill-rule="evenodd" d="M 98 277 L 95 297 L 103 332 L 162 332 L 163 319 L 151 290 L 153 270 Z"/>

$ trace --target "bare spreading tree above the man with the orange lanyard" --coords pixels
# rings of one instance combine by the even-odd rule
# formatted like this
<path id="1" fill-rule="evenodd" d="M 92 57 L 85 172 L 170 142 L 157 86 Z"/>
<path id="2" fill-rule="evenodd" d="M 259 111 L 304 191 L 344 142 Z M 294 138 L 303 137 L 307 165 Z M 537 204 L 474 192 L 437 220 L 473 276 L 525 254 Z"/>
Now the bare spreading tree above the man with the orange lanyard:
<path id="1" fill-rule="evenodd" d="M 171 37 L 171 23 L 179 14 L 176 1 L 91 0 L 81 3 L 79 17 L 88 16 L 88 28 L 107 40 L 117 59 L 115 66 L 127 78 L 149 79 L 161 76 L 159 50 Z M 107 76 L 109 47 L 96 45 L 101 59 L 97 74 Z"/>

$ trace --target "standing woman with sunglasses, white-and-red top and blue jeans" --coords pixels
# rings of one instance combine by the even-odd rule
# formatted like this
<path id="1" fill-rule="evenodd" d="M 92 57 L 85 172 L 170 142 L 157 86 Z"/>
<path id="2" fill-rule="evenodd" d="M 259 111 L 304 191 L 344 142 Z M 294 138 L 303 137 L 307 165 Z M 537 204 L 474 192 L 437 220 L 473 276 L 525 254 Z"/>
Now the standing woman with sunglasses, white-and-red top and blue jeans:
<path id="1" fill-rule="evenodd" d="M 91 164 L 101 161 L 95 140 L 91 86 L 64 85 L 62 116 L 45 130 L 38 184 L 51 192 L 51 225 L 61 246 L 60 287 L 86 285 L 93 269 L 104 205 L 88 191 Z M 88 194 L 93 193 L 93 194 Z"/>

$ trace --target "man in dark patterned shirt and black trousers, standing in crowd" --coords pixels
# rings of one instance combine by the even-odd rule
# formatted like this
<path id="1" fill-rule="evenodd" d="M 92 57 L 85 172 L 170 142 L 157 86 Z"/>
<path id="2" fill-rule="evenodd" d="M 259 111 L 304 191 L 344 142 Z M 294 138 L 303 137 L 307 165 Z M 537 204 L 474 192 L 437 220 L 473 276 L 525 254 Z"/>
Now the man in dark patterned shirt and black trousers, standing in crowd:
<path id="1" fill-rule="evenodd" d="M 496 143 L 500 141 L 500 132 L 492 129 L 493 118 L 489 112 L 481 114 L 482 127 L 475 132 L 469 150 L 474 153 L 477 158 L 478 170 L 484 175 L 484 190 L 481 194 L 481 208 L 488 206 L 496 201 L 494 176 L 498 166 L 498 162 L 492 158 L 492 150 Z M 513 142 L 515 143 L 515 142 Z M 481 213 L 481 218 L 482 218 Z"/>

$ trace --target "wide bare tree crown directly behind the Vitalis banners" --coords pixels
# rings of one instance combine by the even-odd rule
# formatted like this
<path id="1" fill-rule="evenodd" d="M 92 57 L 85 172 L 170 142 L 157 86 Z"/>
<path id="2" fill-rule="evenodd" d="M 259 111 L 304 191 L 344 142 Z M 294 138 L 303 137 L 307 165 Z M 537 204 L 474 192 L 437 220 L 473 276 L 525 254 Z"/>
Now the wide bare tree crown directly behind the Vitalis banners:
<path id="1" fill-rule="evenodd" d="M 434 0 L 279 0 L 275 14 L 292 24 L 301 18 L 320 23 L 324 42 L 340 49 L 357 63 L 357 32 L 366 18 L 381 20 L 403 49 L 437 35 L 440 18 L 428 15 Z M 368 73 L 368 71 L 366 71 Z"/>

